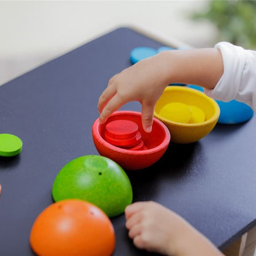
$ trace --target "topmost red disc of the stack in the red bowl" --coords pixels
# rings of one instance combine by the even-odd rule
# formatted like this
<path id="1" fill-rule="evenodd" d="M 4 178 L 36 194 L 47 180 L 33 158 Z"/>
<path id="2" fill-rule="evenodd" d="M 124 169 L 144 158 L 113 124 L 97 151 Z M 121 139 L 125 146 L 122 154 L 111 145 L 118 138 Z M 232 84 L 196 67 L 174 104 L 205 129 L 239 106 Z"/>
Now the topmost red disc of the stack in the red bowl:
<path id="1" fill-rule="evenodd" d="M 108 137 L 122 140 L 124 138 L 135 137 L 137 135 L 138 125 L 129 120 L 115 120 L 108 122 L 105 129 L 105 134 Z"/>

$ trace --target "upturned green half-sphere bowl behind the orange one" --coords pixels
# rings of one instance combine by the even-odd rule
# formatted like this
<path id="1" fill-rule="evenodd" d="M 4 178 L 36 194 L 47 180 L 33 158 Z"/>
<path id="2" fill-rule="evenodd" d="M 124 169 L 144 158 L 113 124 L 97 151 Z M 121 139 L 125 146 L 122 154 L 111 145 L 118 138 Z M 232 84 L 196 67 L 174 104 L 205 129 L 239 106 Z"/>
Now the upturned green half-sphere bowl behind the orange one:
<path id="1" fill-rule="evenodd" d="M 132 202 L 132 186 L 126 172 L 111 159 L 81 156 L 68 162 L 52 186 L 54 201 L 81 199 L 100 207 L 108 217 L 124 212 Z"/>

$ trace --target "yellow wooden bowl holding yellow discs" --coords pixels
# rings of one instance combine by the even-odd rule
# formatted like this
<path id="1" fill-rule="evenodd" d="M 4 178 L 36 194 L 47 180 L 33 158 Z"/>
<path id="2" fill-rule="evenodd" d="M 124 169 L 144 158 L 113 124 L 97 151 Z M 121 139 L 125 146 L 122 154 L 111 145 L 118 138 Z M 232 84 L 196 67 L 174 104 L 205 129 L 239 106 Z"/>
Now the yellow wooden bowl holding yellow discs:
<path id="1" fill-rule="evenodd" d="M 186 105 L 198 106 L 206 114 L 206 120 L 194 124 L 184 124 L 162 117 L 159 114 L 160 110 L 170 102 L 181 102 Z M 203 92 L 199 92 L 199 90 L 185 86 L 166 87 L 154 108 L 154 117 L 166 124 L 170 130 L 170 140 L 174 143 L 191 143 L 200 140 L 214 129 L 219 116 L 220 108 L 215 100 L 207 97 Z"/>

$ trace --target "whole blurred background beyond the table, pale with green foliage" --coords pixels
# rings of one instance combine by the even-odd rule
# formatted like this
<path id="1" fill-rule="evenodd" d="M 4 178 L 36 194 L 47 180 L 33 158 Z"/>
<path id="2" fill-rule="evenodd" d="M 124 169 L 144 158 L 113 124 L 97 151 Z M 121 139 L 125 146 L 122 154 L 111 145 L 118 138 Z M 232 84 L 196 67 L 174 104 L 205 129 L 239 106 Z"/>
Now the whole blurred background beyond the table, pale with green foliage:
<path id="1" fill-rule="evenodd" d="M 0 1 L 0 85 L 119 26 L 256 49 L 256 1 Z"/>

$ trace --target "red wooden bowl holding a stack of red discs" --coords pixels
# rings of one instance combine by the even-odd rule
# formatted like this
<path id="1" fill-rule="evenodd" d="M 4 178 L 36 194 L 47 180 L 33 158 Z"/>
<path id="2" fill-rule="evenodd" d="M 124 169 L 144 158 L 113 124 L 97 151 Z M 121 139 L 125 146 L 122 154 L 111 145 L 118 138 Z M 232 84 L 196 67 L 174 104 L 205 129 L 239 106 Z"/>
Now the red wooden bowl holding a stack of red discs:
<path id="1" fill-rule="evenodd" d="M 127 150 L 104 140 L 106 124 L 119 119 L 136 122 L 146 150 Z M 162 157 L 170 143 L 170 132 L 161 121 L 154 118 L 152 132 L 148 134 L 143 130 L 140 112 L 116 111 L 105 124 L 100 124 L 99 119 L 96 119 L 92 126 L 92 138 L 100 155 L 112 159 L 124 169 L 138 170 L 151 166 Z"/>

